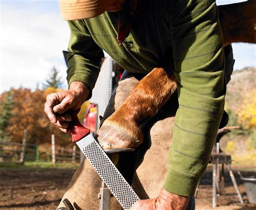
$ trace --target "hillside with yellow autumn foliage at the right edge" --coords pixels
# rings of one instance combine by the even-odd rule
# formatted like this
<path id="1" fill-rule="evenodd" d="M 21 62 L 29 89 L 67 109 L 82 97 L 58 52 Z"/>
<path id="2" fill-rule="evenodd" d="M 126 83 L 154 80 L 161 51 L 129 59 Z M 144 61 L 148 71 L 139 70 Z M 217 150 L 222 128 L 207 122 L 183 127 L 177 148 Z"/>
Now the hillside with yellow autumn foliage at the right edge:
<path id="1" fill-rule="evenodd" d="M 224 152 L 240 164 L 254 163 L 256 158 L 256 68 L 246 67 L 234 71 L 227 85 L 225 110 L 228 126 L 239 125 L 220 141 Z"/>

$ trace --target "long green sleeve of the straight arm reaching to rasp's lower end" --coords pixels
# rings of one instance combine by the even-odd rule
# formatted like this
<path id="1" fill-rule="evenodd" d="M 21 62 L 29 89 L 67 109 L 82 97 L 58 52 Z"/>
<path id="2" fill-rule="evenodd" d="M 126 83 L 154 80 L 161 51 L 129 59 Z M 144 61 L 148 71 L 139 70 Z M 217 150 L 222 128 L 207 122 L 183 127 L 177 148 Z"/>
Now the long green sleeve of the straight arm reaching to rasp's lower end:
<path id="1" fill-rule="evenodd" d="M 190 196 L 206 170 L 223 115 L 225 59 L 215 2 L 173 2 L 179 11 L 170 23 L 179 108 L 164 188 Z"/>

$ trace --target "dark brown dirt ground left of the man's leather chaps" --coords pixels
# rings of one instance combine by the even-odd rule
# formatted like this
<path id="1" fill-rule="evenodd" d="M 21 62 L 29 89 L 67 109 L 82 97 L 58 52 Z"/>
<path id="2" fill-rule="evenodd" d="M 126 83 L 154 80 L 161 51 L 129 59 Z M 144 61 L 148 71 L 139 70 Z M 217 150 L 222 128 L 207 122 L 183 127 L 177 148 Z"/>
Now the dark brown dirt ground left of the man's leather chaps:
<path id="1" fill-rule="evenodd" d="M 75 170 L 0 170 L 0 209 L 56 209 Z"/>

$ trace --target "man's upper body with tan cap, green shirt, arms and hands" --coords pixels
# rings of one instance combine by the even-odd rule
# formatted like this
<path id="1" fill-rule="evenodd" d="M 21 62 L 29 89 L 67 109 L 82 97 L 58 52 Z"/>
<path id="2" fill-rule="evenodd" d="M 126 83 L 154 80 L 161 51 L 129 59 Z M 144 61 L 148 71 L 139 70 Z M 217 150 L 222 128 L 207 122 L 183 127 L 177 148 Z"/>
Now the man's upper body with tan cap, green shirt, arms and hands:
<path id="1" fill-rule="evenodd" d="M 206 169 L 224 109 L 225 59 L 215 2 L 63 0 L 60 10 L 71 20 L 69 90 L 47 97 L 49 119 L 68 132 L 72 119 L 66 111 L 79 110 L 90 98 L 102 49 L 127 72 L 174 72 L 179 109 L 164 187 L 158 198 L 133 208 L 185 209 Z"/>

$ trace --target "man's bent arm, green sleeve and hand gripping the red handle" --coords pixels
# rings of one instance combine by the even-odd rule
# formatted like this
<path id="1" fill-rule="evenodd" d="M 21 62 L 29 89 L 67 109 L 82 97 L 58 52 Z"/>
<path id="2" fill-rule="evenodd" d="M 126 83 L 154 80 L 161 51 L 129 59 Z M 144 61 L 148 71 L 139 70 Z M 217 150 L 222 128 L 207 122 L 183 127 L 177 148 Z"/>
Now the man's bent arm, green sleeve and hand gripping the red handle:
<path id="1" fill-rule="evenodd" d="M 52 124 L 68 132 L 71 116 L 66 111 L 78 112 L 83 102 L 91 97 L 98 78 L 102 49 L 93 41 L 83 20 L 69 22 L 71 37 L 68 55 L 69 89 L 46 97 L 45 113 Z"/>

